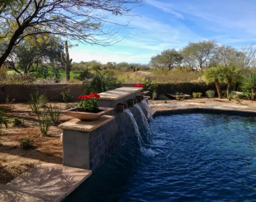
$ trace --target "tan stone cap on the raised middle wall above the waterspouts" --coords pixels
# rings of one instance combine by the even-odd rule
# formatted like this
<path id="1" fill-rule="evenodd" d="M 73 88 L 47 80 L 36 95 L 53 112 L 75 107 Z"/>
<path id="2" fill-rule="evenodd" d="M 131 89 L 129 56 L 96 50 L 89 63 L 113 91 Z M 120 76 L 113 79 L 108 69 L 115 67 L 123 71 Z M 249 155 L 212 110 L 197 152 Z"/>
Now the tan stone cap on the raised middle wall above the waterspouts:
<path id="1" fill-rule="evenodd" d="M 140 92 L 143 88 L 135 88 L 135 87 L 122 87 L 116 88 L 115 90 L 107 91 L 99 93 L 101 96 L 100 100 L 119 100 L 123 97 L 129 96 L 132 93 Z"/>

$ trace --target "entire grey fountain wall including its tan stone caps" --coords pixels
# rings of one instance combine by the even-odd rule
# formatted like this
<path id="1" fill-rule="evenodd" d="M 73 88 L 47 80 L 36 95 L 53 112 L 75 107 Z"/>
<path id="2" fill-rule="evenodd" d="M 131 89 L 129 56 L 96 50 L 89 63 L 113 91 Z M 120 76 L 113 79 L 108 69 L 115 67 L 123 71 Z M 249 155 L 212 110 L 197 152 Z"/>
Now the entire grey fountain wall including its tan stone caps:
<path id="1" fill-rule="evenodd" d="M 118 113 L 115 108 L 118 103 L 134 99 L 141 90 L 142 88 L 118 88 L 112 92 L 101 93 L 98 105 L 114 108 L 112 114 L 103 115 L 101 119 L 92 122 L 72 119 L 62 123 L 59 127 L 63 129 L 63 165 L 96 170 L 129 139 L 136 136 L 130 115 L 125 112 Z M 147 99 L 148 97 L 145 97 L 145 101 Z M 137 106 L 140 106 L 147 116 L 144 105 L 138 103 Z M 128 107 L 128 110 L 135 119 L 133 121 L 141 127 L 141 111 L 134 106 Z"/>

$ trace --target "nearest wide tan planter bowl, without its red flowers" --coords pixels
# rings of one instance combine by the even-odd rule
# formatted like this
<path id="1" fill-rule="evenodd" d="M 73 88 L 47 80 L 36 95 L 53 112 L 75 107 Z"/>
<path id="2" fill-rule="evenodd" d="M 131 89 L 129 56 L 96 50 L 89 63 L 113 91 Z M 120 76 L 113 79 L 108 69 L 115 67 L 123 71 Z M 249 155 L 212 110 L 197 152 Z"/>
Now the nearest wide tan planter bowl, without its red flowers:
<path id="1" fill-rule="evenodd" d="M 79 109 L 79 107 L 73 107 L 71 109 L 62 111 L 62 114 L 66 114 L 83 121 L 93 121 L 95 119 L 98 119 L 102 115 L 110 112 L 111 110 L 113 110 L 113 108 L 99 107 L 99 110 L 102 110 L 102 111 L 98 113 L 93 113 L 93 112 L 76 111 L 77 109 Z"/>

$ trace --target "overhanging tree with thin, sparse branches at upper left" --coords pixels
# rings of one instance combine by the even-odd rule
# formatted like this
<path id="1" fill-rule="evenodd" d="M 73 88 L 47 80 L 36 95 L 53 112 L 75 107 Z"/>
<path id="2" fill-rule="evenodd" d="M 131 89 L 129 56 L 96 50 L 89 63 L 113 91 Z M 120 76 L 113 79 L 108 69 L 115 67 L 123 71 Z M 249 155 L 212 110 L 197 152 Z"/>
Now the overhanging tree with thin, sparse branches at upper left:
<path id="1" fill-rule="evenodd" d="M 15 0 L 0 13 L 0 41 L 7 44 L 0 67 L 27 36 L 54 35 L 84 44 L 112 45 L 116 31 L 108 15 L 129 15 L 143 0 Z M 99 12 L 100 11 L 100 12 Z M 114 23 L 114 22 L 113 22 Z M 116 23 L 115 23 L 116 24 Z"/>

